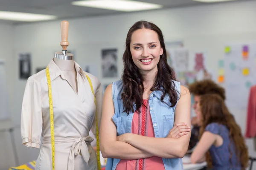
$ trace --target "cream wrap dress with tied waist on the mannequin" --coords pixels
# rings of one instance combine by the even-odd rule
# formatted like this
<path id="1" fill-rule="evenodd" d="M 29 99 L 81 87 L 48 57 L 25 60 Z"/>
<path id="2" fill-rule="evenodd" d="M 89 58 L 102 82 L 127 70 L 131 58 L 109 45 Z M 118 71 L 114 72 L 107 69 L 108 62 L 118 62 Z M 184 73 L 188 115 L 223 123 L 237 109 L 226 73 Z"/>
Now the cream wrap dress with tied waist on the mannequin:
<path id="1" fill-rule="evenodd" d="M 76 62 L 74 65 L 77 93 L 53 59 L 48 65 L 52 83 L 55 170 L 96 170 L 96 153 L 90 145 L 92 138 L 89 136 L 90 129 L 96 135 L 94 97 L 81 67 Z M 96 77 L 86 74 L 93 84 L 100 125 L 102 85 Z M 49 96 L 45 70 L 27 80 L 21 112 L 21 137 L 24 145 L 40 148 L 35 170 L 51 170 Z M 85 161 L 87 159 L 88 164 Z"/>

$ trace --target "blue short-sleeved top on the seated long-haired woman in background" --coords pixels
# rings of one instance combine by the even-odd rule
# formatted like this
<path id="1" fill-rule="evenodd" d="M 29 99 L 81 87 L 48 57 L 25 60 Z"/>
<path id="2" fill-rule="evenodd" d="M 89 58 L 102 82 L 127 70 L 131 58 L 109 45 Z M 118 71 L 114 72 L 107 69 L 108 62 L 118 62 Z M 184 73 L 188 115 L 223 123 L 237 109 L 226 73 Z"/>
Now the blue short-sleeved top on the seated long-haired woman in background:
<path id="1" fill-rule="evenodd" d="M 236 156 L 235 145 L 232 142 L 230 145 L 229 130 L 225 125 L 218 123 L 210 123 L 205 127 L 205 131 L 220 135 L 223 138 L 223 144 L 219 147 L 212 145 L 210 147 L 210 155 L 212 157 L 212 170 L 241 170 L 239 158 Z M 232 158 L 230 164 L 230 152 Z"/>

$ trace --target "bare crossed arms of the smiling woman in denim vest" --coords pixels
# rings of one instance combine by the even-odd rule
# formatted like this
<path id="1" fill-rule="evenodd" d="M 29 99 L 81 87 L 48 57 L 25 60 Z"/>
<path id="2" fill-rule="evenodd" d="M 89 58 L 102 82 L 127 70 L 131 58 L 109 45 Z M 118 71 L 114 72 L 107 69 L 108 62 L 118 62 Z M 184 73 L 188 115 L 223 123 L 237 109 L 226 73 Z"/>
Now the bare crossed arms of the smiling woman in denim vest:
<path id="1" fill-rule="evenodd" d="M 175 109 L 175 124 L 185 122 L 190 126 L 189 90 L 181 86 L 180 95 Z M 116 126 L 112 120 L 114 114 L 112 85 L 109 85 L 105 90 L 102 110 L 100 148 L 103 157 L 116 159 L 143 159 L 151 156 L 182 158 L 186 154 L 190 130 L 187 133 L 181 133 L 183 136 L 179 138 L 172 138 L 172 134 L 170 134 L 174 134 L 172 130 L 166 138 L 140 136 L 134 133 L 116 136 Z"/>

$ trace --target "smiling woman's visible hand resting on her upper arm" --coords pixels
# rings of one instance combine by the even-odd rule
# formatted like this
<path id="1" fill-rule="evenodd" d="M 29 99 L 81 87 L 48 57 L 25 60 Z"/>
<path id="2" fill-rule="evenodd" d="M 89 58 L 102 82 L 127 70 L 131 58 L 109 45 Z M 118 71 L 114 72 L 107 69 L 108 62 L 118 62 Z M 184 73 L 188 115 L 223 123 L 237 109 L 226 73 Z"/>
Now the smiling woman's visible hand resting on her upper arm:
<path id="1" fill-rule="evenodd" d="M 190 130 L 190 127 L 187 126 L 186 123 L 176 123 L 172 127 L 166 138 L 179 138 L 186 135 Z"/>

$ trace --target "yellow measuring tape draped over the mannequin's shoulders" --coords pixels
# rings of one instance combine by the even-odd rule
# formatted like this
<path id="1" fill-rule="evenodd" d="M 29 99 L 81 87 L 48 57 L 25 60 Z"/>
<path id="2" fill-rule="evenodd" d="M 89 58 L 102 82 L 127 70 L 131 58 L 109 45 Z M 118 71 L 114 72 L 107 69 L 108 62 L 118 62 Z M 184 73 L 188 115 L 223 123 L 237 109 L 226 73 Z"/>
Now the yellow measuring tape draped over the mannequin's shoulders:
<path id="1" fill-rule="evenodd" d="M 84 73 L 85 74 L 85 73 Z M 98 162 L 98 170 L 101 170 L 101 163 L 100 163 L 100 156 L 99 156 L 99 126 L 98 126 L 98 116 L 97 116 L 97 105 L 96 105 L 96 97 L 94 95 L 93 91 L 93 85 L 90 80 L 90 77 L 85 74 L 89 84 L 91 91 L 94 96 L 94 103 L 96 106 L 96 143 L 97 143 L 97 162 Z M 52 143 L 52 170 L 55 168 L 55 142 L 54 142 L 54 121 L 53 121 L 53 106 L 52 106 L 52 85 L 51 85 L 51 79 L 49 74 L 49 68 L 47 66 L 46 68 L 46 77 L 47 77 L 47 83 L 48 83 L 48 95 L 49 95 L 49 109 L 50 109 L 50 125 L 51 125 L 51 143 Z"/>

